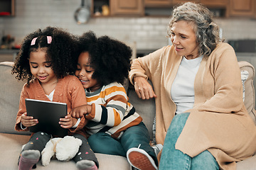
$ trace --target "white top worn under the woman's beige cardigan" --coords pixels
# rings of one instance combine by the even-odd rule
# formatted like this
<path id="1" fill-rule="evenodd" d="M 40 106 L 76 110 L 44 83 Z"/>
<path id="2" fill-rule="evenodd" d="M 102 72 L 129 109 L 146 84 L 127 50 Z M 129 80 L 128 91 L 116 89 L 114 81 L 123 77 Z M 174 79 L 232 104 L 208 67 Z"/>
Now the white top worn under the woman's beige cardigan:
<path id="1" fill-rule="evenodd" d="M 171 98 L 177 107 L 176 114 L 193 108 L 195 102 L 194 82 L 202 59 L 203 55 L 192 60 L 183 57 L 181 60 L 174 83 L 171 86 Z"/>

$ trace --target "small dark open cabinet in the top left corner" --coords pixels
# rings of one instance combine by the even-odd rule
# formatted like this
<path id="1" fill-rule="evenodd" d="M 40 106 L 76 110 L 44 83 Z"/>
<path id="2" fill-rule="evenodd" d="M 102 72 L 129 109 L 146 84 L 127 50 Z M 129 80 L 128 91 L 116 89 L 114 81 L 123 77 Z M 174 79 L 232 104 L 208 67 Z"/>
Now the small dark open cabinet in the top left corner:
<path id="1" fill-rule="evenodd" d="M 0 16 L 15 16 L 15 0 L 0 0 Z"/>

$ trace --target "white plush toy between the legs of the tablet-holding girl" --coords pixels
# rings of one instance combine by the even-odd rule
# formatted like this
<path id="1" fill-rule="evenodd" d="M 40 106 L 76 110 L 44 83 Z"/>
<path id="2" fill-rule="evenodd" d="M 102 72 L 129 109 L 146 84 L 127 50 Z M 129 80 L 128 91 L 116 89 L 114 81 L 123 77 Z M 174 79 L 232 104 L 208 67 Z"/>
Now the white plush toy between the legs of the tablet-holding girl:
<path id="1" fill-rule="evenodd" d="M 73 136 L 55 137 L 49 140 L 41 153 L 43 166 L 50 163 L 54 154 L 59 161 L 68 162 L 78 153 L 80 145 L 82 145 L 82 140 Z"/>

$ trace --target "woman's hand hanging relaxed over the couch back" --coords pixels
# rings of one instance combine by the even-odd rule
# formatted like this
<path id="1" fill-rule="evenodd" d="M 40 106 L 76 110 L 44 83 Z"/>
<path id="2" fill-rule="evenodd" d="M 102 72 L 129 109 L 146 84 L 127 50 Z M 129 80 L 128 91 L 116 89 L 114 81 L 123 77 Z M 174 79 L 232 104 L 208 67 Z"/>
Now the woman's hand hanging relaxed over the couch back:
<path id="1" fill-rule="evenodd" d="M 149 99 L 156 98 L 156 94 L 152 86 L 144 77 L 134 77 L 134 89 L 139 98 Z"/>

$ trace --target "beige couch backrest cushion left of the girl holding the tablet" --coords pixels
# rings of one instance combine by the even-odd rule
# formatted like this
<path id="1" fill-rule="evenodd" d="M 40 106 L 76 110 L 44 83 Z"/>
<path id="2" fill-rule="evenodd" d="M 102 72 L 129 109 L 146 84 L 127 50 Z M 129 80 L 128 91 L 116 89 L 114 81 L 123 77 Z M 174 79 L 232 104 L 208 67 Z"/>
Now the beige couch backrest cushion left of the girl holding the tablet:
<path id="1" fill-rule="evenodd" d="M 14 62 L 0 63 L 0 132 L 30 134 L 30 132 L 17 132 L 14 130 L 16 123 L 16 115 L 18 113 L 18 103 L 21 89 L 24 81 L 15 79 L 15 75 L 11 74 Z"/>

